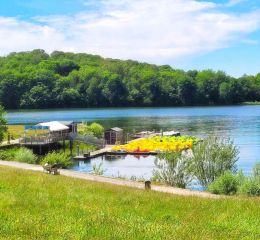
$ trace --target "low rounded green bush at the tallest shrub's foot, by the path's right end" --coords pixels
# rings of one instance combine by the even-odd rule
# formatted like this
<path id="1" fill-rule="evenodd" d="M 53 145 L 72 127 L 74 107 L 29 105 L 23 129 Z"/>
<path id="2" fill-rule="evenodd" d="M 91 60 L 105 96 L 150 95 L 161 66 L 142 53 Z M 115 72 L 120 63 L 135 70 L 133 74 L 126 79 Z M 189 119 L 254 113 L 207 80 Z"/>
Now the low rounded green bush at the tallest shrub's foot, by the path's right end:
<path id="1" fill-rule="evenodd" d="M 225 172 L 208 186 L 208 191 L 214 194 L 234 195 L 239 187 L 239 177 L 232 172 Z"/>

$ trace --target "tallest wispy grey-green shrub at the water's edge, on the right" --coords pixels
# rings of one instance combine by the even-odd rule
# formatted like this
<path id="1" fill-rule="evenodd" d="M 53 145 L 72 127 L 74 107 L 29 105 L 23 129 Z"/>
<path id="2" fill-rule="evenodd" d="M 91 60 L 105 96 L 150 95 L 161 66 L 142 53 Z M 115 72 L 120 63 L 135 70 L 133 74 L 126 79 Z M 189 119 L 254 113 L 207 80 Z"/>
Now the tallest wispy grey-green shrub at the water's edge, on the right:
<path id="1" fill-rule="evenodd" d="M 193 148 L 192 172 L 207 187 L 226 171 L 236 171 L 239 151 L 230 139 L 210 136 Z"/>

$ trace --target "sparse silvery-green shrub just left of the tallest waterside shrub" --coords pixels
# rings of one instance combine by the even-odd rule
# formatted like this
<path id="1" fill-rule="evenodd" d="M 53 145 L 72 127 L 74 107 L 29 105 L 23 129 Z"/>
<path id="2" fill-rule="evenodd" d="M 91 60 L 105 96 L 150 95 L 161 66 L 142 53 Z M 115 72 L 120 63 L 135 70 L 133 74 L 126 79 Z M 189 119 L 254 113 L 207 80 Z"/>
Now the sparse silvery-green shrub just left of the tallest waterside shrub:
<path id="1" fill-rule="evenodd" d="M 159 154 L 155 160 L 153 181 L 185 188 L 192 181 L 190 165 L 191 156 L 188 151 Z"/>

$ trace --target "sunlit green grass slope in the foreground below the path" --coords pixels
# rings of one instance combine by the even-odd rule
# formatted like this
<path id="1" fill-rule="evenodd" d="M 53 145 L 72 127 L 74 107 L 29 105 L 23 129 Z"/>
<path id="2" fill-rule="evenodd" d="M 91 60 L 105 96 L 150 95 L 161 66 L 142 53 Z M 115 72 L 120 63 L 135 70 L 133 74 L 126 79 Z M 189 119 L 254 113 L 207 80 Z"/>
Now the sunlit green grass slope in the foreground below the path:
<path id="1" fill-rule="evenodd" d="M 0 167 L 0 239 L 260 239 L 260 199 L 180 197 Z"/>

